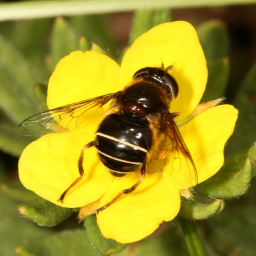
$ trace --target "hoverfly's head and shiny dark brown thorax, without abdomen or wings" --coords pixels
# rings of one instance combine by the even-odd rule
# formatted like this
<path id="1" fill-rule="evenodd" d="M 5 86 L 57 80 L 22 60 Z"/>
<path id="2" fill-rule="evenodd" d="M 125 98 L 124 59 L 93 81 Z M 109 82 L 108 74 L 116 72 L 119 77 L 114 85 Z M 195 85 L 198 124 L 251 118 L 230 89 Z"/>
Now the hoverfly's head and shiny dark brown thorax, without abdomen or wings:
<path id="1" fill-rule="evenodd" d="M 120 106 L 132 118 L 141 118 L 150 113 L 168 109 L 177 97 L 175 79 L 161 68 L 142 68 L 133 76 L 132 82 L 120 93 Z"/>

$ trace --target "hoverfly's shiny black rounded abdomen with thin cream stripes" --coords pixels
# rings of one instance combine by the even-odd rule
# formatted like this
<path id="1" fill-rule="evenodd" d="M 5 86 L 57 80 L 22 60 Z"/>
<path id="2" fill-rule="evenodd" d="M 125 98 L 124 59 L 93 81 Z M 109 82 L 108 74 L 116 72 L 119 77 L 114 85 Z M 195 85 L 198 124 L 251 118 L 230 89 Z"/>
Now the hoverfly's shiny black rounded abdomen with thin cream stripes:
<path id="1" fill-rule="evenodd" d="M 116 173 L 132 172 L 147 157 L 152 132 L 146 118 L 131 118 L 118 111 L 106 116 L 96 132 L 96 148 L 102 163 Z"/>

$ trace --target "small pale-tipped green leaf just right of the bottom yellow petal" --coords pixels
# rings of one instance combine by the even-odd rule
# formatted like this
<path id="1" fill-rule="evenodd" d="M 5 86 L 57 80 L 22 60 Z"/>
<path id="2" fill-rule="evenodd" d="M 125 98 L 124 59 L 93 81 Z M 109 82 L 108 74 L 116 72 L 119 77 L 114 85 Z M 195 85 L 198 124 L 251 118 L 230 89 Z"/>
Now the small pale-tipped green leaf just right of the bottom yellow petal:
<path id="1" fill-rule="evenodd" d="M 191 220 L 202 220 L 222 211 L 223 200 L 214 200 L 207 196 L 193 195 L 192 198 L 181 197 L 180 216 Z"/>

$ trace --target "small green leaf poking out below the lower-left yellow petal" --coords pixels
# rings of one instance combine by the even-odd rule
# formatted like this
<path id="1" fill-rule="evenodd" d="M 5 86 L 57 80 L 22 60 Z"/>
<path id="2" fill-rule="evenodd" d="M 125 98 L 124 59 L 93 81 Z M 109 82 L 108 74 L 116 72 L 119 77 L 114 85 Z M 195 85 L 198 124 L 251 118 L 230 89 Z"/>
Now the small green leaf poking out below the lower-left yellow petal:
<path id="1" fill-rule="evenodd" d="M 40 198 L 18 205 L 19 212 L 40 226 L 52 227 L 66 220 L 72 209 L 60 207 Z"/>

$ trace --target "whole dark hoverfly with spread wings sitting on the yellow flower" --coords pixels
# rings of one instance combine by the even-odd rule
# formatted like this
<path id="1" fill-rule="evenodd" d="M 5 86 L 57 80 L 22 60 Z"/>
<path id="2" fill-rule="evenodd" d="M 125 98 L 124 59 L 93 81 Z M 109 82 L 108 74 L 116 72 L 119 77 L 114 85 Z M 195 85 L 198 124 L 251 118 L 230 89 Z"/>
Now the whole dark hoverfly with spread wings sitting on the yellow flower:
<path id="1" fill-rule="evenodd" d="M 77 119 L 89 109 L 102 107 L 108 102 L 111 102 L 110 109 L 116 109 L 110 111 L 99 124 L 94 140 L 82 148 L 78 159 L 79 177 L 63 191 L 59 202 L 63 202 L 68 191 L 83 179 L 84 152 L 90 147 L 97 148 L 100 160 L 112 175 L 121 177 L 136 170 L 141 173 L 140 180 L 131 188 L 120 191 L 111 202 L 97 209 L 97 213 L 122 195 L 131 193 L 145 178 L 147 163 L 156 151 L 156 141 L 160 136 L 164 138 L 163 141 L 171 141 L 169 150 L 172 150 L 174 158 L 179 158 L 179 154 L 182 154 L 192 166 L 197 181 L 195 163 L 173 120 L 179 113 L 170 113 L 168 110 L 179 93 L 177 82 L 168 73 L 172 68 L 172 65 L 164 68 L 163 64 L 160 68 L 141 68 L 122 91 L 50 109 L 30 116 L 19 125 L 20 133 L 41 136 L 49 132 L 60 132 L 55 129 L 56 125 L 61 126 L 61 122 L 67 119 L 66 127 L 63 128 L 70 131 L 68 126 L 72 122 L 77 126 Z"/>

